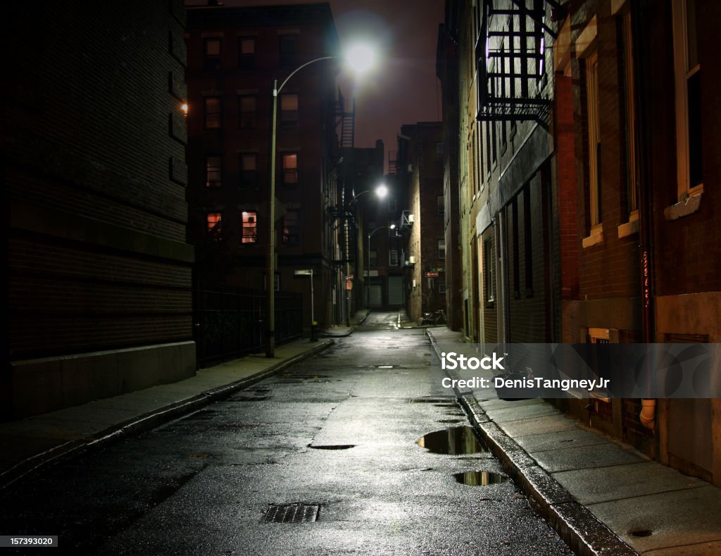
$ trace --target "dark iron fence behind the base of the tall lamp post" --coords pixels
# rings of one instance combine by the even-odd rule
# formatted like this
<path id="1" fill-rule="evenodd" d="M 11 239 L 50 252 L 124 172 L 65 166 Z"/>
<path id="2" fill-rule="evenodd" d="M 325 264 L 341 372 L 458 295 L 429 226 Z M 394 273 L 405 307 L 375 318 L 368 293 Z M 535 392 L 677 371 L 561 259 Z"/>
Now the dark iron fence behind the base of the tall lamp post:
<path id="1" fill-rule="evenodd" d="M 195 291 L 198 367 L 265 350 L 265 292 L 225 287 Z M 275 292 L 275 344 L 301 337 L 302 294 Z"/>

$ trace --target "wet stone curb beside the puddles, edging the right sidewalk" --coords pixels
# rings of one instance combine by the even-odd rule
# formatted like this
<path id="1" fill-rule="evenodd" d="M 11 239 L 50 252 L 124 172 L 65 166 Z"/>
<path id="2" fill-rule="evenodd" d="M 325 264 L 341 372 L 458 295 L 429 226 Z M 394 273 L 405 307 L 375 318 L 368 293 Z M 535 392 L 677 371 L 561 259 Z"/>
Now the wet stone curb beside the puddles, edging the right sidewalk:
<path id="1" fill-rule="evenodd" d="M 435 338 L 428 331 L 425 335 L 428 336 L 435 353 L 440 356 Z M 446 371 L 446 374 L 452 379 L 459 378 L 450 371 Z M 454 390 L 474 429 L 501 462 L 504 471 L 523 489 L 536 511 L 557 531 L 573 552 L 581 556 L 638 556 L 638 552 L 596 518 L 588 508 L 575 501 L 549 472 L 492 421 L 472 392 L 457 388 Z"/>

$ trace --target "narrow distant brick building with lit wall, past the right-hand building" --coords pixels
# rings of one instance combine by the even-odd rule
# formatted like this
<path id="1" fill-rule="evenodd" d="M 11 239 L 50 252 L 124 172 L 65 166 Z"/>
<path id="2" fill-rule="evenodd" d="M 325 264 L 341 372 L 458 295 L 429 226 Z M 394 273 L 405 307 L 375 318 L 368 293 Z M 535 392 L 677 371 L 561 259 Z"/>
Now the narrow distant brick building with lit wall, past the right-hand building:
<path id="1" fill-rule="evenodd" d="M 412 320 L 425 312 L 446 309 L 446 231 L 443 198 L 443 127 L 441 122 L 404 125 L 408 137 L 408 212 L 414 215 L 407 233 L 407 314 Z"/>

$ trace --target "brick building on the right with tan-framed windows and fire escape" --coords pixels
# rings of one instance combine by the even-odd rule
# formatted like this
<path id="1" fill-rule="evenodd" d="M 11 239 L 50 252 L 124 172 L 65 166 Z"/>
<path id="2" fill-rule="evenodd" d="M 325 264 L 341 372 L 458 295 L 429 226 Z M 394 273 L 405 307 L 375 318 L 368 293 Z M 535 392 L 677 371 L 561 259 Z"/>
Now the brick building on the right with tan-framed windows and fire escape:
<path id="1" fill-rule="evenodd" d="M 718 342 L 719 4 L 446 7 L 459 63 L 466 337 Z M 718 400 L 643 403 L 641 418 L 642 400 L 557 400 L 594 428 L 721 484 Z"/>

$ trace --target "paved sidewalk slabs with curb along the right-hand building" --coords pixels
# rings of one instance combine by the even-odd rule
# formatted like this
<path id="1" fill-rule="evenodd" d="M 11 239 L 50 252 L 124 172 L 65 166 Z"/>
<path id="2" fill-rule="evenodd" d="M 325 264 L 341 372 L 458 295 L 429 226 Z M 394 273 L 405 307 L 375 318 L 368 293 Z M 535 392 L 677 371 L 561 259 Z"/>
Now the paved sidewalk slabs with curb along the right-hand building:
<path id="1" fill-rule="evenodd" d="M 478 355 L 461 332 L 427 334 L 438 353 Z M 544 400 L 498 400 L 492 388 L 456 394 L 506 472 L 578 554 L 721 554 L 720 488 L 653 462 Z"/>

